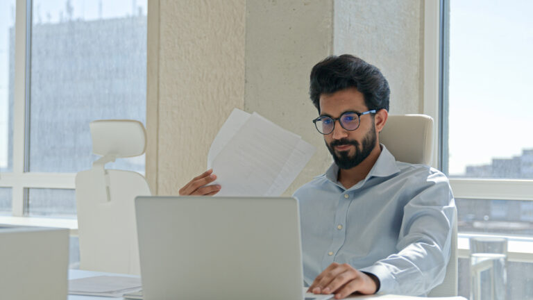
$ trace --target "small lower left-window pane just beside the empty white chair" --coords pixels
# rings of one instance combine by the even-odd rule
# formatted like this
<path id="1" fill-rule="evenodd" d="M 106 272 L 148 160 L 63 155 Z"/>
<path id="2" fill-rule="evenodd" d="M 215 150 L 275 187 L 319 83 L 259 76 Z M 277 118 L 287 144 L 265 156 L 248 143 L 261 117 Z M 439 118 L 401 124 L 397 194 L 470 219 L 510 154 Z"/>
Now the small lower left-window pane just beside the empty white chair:
<path id="1" fill-rule="evenodd" d="M 31 188 L 26 210 L 30 217 L 76 219 L 76 194 L 74 190 Z"/>

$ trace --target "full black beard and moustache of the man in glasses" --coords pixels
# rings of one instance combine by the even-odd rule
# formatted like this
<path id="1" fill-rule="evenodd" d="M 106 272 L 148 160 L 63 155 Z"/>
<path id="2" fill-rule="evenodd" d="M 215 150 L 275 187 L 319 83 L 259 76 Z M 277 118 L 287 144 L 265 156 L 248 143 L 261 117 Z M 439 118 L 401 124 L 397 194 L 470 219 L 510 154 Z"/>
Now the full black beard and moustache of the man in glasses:
<path id="1" fill-rule="evenodd" d="M 375 142 L 376 134 L 375 126 L 373 125 L 371 130 L 369 130 L 369 132 L 364 135 L 364 138 L 361 142 L 361 149 L 359 149 L 358 141 L 348 140 L 346 138 L 341 140 L 334 140 L 330 144 L 328 144 L 328 142 L 325 142 L 325 146 L 328 147 L 328 150 L 333 156 L 333 160 L 335 160 L 335 165 L 337 165 L 339 169 L 351 169 L 359 165 L 363 160 L 369 157 L 370 153 L 375 147 Z M 353 153 L 352 156 L 349 155 L 349 150 L 341 151 L 339 152 L 339 154 L 335 153 L 335 146 L 341 146 L 346 144 L 352 144 L 355 147 L 355 153 Z"/>

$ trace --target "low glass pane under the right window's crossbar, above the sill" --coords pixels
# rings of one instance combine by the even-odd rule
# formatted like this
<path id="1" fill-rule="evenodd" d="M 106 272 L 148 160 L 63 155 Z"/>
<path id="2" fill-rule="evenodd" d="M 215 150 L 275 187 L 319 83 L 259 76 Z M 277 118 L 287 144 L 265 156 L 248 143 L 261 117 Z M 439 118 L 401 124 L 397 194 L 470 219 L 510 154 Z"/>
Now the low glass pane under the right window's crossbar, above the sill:
<path id="1" fill-rule="evenodd" d="M 533 235 L 533 201 L 455 199 L 461 233 Z"/>

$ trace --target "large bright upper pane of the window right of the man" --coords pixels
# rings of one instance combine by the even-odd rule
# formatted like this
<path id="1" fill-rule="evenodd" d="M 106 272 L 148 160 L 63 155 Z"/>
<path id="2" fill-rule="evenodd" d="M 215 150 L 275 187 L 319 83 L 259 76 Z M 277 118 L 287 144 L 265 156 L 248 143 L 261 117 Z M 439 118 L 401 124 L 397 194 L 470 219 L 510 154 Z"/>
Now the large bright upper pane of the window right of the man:
<path id="1" fill-rule="evenodd" d="M 450 176 L 533 178 L 533 1 L 450 1 Z"/>

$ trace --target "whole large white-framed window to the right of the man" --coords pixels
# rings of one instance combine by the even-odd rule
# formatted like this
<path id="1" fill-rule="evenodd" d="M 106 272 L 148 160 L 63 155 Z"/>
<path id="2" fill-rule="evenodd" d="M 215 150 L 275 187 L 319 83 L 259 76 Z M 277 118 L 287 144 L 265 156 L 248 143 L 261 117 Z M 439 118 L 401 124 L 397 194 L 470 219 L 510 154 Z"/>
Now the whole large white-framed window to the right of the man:
<path id="1" fill-rule="evenodd" d="M 442 3 L 440 165 L 459 235 L 525 242 L 507 265 L 507 298 L 533 299 L 533 3 Z M 460 256 L 459 295 L 467 298 L 468 268 L 468 256 Z"/>

